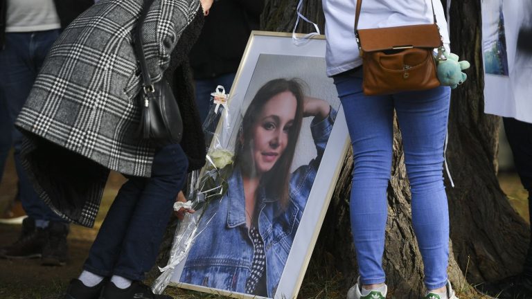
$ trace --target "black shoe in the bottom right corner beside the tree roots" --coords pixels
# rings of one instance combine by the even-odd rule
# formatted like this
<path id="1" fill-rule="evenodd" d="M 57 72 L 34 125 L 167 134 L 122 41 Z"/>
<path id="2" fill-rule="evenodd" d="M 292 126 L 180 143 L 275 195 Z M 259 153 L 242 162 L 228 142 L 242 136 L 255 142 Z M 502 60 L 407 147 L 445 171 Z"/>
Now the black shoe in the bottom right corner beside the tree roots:
<path id="1" fill-rule="evenodd" d="M 532 277 L 523 274 L 510 276 L 480 284 L 477 289 L 499 299 L 532 299 Z"/>

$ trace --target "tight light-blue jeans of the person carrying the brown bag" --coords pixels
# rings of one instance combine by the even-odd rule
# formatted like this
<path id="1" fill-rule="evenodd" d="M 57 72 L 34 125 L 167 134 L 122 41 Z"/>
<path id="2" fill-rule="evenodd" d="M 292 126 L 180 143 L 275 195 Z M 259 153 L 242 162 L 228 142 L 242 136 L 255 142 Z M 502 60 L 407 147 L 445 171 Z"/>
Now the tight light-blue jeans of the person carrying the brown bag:
<path id="1" fill-rule="evenodd" d="M 412 224 L 425 266 L 425 286 L 443 287 L 449 258 L 443 147 L 450 88 L 365 96 L 360 71 L 342 73 L 334 79 L 353 145 L 351 228 L 362 284 L 385 280 L 382 254 L 395 109 L 410 181 Z"/>

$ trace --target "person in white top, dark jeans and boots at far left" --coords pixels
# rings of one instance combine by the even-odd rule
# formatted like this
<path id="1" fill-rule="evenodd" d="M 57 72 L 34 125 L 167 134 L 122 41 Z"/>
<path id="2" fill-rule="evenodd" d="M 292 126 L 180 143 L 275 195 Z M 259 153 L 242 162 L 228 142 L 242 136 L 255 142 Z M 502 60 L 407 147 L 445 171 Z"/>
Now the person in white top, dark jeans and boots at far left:
<path id="1" fill-rule="evenodd" d="M 55 39 L 93 0 L 0 0 L 0 172 L 10 148 L 15 147 L 19 177 L 18 197 L 4 213 L 3 222 L 24 217 L 14 243 L 0 248 L 3 258 L 42 257 L 43 265 L 68 260 L 69 224 L 39 199 L 21 165 L 22 135 L 14 123 L 28 98 L 37 73 Z M 1 178 L 1 176 L 0 176 Z M 24 208 L 24 211 L 21 210 Z"/>

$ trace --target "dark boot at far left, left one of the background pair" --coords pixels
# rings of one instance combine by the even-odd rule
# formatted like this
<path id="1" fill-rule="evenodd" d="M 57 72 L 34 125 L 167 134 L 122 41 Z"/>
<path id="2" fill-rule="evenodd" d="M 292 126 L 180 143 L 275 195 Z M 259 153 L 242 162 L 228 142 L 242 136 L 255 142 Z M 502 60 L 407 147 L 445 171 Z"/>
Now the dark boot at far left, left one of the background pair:
<path id="1" fill-rule="evenodd" d="M 26 217 L 22 221 L 22 231 L 19 239 L 15 243 L 2 248 L 0 257 L 12 259 L 41 257 L 45 242 L 46 232 L 44 229 L 35 227 L 35 219 Z"/>

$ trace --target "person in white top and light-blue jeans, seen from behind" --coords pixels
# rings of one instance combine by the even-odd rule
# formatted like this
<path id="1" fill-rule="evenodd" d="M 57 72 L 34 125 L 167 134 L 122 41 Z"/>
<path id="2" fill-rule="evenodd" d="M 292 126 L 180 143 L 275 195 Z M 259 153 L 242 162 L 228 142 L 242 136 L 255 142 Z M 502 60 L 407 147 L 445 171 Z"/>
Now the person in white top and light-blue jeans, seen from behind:
<path id="1" fill-rule="evenodd" d="M 322 2 L 326 17 L 327 75 L 335 81 L 353 145 L 351 226 L 360 278 L 348 291 L 347 298 L 375 299 L 387 295 L 382 254 L 395 110 L 411 187 L 412 222 L 425 266 L 425 298 L 456 299 L 447 280 L 449 215 L 443 185 L 450 87 L 385 96 L 364 95 L 362 59 L 354 33 L 356 2 Z M 440 0 L 364 0 L 358 28 L 430 24 L 434 19 L 432 4 L 443 43 L 450 53 Z"/>

